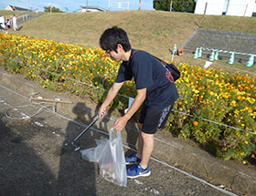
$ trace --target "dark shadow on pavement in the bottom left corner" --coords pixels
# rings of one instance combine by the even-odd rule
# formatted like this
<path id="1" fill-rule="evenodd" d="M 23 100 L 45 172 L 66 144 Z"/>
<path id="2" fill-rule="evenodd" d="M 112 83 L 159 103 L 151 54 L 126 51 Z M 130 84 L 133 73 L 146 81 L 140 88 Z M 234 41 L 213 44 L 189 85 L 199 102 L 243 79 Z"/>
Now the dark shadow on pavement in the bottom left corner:
<path id="1" fill-rule="evenodd" d="M 55 176 L 32 147 L 24 141 L 37 134 L 28 125 L 6 124 L 0 113 L 0 195 L 57 194 Z"/>

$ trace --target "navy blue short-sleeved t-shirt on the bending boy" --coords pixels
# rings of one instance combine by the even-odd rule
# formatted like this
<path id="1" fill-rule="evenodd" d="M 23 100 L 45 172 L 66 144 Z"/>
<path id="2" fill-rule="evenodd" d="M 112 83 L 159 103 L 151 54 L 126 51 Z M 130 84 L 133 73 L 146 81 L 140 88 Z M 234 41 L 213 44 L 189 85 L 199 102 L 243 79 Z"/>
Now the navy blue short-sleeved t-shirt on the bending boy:
<path id="1" fill-rule="evenodd" d="M 133 77 L 137 89 L 146 88 L 144 103 L 149 109 L 164 109 L 174 105 L 179 98 L 170 71 L 147 52 L 138 51 L 129 61 L 123 61 L 115 82 L 121 83 Z"/>

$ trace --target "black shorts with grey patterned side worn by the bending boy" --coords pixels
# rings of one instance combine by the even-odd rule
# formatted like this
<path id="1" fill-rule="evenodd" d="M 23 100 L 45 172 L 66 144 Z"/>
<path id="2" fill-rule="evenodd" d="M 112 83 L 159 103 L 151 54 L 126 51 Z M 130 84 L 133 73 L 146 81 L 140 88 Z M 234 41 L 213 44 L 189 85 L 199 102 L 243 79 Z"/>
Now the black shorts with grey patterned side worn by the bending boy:
<path id="1" fill-rule="evenodd" d="M 143 105 L 139 122 L 143 124 L 142 131 L 147 134 L 155 134 L 157 129 L 164 129 L 173 106 L 170 105 L 162 110 L 148 109 Z"/>

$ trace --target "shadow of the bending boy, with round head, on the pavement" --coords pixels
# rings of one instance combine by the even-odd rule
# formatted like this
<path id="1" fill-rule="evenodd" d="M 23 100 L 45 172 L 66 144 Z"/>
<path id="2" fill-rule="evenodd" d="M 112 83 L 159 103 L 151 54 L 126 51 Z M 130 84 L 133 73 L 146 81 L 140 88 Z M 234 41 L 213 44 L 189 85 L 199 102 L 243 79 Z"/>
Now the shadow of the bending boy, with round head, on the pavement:
<path id="1" fill-rule="evenodd" d="M 84 103 L 78 103 L 73 108 L 77 115 L 76 121 L 87 124 L 85 116 L 91 117 L 91 108 L 86 108 Z M 88 125 L 88 124 L 87 124 Z M 95 164 L 81 159 L 80 151 L 70 144 L 83 130 L 81 126 L 69 122 L 66 129 L 66 139 L 60 150 L 59 178 L 57 188 L 61 195 L 95 195 Z M 79 140 L 82 148 L 92 147 L 90 131 L 85 132 Z"/>

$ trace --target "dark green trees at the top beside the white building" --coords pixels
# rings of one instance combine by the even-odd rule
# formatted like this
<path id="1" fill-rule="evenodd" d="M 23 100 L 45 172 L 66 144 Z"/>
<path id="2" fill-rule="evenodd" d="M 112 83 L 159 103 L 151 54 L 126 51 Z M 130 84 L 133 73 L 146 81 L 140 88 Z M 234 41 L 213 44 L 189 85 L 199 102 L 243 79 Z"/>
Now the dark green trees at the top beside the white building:
<path id="1" fill-rule="evenodd" d="M 155 10 L 170 11 L 171 0 L 154 0 Z M 173 0 L 172 11 L 194 13 L 194 0 Z"/>

